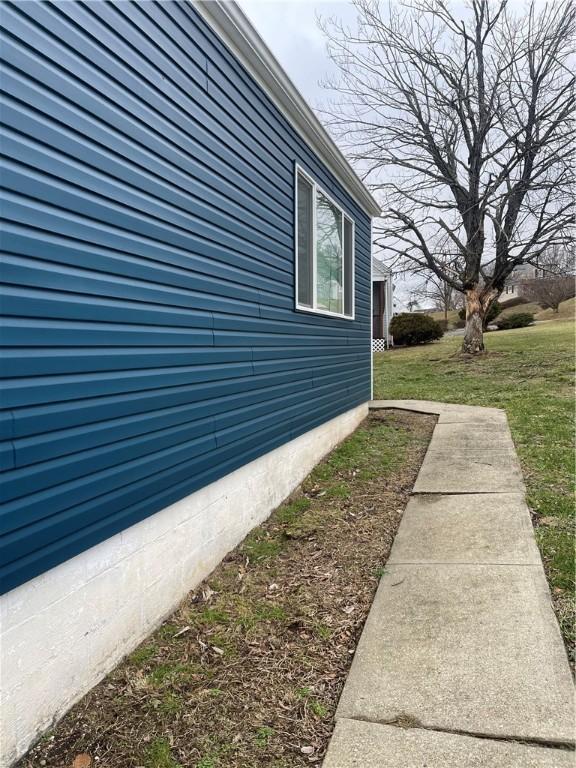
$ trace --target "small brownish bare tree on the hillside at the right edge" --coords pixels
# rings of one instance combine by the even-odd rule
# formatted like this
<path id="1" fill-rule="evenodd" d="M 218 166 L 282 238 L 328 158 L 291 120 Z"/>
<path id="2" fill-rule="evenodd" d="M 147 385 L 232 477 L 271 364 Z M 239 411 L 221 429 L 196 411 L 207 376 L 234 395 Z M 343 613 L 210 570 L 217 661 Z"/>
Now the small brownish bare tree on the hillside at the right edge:
<path id="1" fill-rule="evenodd" d="M 576 296 L 574 255 L 567 248 L 551 248 L 539 259 L 538 269 L 542 277 L 523 280 L 520 292 L 528 301 L 558 312 L 563 301 Z"/>

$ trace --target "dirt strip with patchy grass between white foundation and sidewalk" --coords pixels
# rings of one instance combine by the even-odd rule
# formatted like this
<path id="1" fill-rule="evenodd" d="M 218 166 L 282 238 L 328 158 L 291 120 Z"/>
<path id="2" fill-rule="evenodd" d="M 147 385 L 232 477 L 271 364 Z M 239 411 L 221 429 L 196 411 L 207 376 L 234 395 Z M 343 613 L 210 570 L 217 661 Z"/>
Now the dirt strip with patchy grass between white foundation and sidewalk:
<path id="1" fill-rule="evenodd" d="M 372 413 L 19 766 L 320 763 L 435 421 Z"/>

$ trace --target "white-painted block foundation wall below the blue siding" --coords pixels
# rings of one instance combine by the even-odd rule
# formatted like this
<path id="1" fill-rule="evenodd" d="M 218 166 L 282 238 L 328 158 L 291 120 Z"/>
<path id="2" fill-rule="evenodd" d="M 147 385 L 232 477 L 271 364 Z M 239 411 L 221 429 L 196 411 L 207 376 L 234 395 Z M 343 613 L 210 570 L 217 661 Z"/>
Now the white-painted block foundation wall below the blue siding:
<path id="1" fill-rule="evenodd" d="M 4 595 L 4 764 L 133 650 L 367 413 L 358 406 L 316 427 Z"/>

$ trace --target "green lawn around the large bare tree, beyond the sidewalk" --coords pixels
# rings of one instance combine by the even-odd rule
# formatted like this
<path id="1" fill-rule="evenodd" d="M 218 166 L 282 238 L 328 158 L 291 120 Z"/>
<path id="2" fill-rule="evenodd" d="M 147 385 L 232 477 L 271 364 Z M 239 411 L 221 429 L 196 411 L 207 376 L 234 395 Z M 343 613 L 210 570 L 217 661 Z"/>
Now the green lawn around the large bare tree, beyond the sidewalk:
<path id="1" fill-rule="evenodd" d="M 488 354 L 455 356 L 461 338 L 374 356 L 374 397 L 504 408 L 528 486 L 536 537 L 568 646 L 574 641 L 573 321 L 486 335 Z"/>

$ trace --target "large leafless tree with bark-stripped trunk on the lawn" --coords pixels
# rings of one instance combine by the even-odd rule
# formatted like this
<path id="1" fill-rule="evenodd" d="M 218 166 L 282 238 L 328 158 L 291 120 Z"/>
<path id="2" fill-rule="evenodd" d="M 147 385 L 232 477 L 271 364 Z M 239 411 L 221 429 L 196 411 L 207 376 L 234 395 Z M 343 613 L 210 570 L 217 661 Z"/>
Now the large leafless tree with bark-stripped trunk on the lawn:
<path id="1" fill-rule="evenodd" d="M 514 267 L 572 237 L 574 7 L 516 17 L 470 0 L 460 18 L 445 0 L 353 2 L 357 30 L 322 23 L 332 129 L 382 198 L 378 244 L 465 295 L 462 349 L 476 354 Z M 446 238 L 455 274 L 437 257 Z"/>

